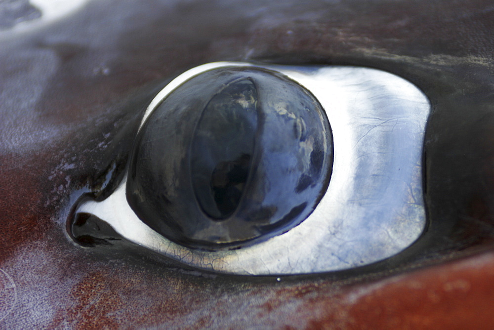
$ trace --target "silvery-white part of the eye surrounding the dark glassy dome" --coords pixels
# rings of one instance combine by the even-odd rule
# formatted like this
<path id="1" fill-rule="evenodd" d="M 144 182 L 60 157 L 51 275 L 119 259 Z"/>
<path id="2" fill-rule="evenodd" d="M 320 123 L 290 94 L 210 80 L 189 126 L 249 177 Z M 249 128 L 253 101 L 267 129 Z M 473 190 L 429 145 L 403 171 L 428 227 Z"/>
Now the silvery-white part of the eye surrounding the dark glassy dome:
<path id="1" fill-rule="evenodd" d="M 202 251 L 165 239 L 145 225 L 125 198 L 126 179 L 92 213 L 126 239 L 198 268 L 233 274 L 300 274 L 370 264 L 409 247 L 422 233 L 422 144 L 430 104 L 412 83 L 357 67 L 287 67 L 218 62 L 170 82 L 148 116 L 181 83 L 221 67 L 260 67 L 284 74 L 319 100 L 333 131 L 329 187 L 313 213 L 287 233 L 236 250 Z"/>

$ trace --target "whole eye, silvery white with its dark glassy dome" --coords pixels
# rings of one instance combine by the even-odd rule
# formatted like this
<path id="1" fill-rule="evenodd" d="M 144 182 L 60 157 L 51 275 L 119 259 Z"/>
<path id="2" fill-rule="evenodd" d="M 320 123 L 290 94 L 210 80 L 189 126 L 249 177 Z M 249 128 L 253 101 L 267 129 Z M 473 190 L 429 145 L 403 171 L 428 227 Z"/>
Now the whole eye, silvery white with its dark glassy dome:
<path id="1" fill-rule="evenodd" d="M 124 182 L 76 212 L 218 272 L 370 264 L 425 226 L 429 109 L 414 85 L 378 70 L 207 64 L 156 96 Z"/>

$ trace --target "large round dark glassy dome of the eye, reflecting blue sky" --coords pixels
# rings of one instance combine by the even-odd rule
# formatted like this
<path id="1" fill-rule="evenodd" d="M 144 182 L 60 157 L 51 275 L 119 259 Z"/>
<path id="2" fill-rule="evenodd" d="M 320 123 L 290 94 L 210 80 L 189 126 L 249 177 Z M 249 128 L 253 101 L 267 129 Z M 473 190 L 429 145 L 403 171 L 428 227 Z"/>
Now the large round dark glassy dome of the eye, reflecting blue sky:
<path id="1" fill-rule="evenodd" d="M 126 196 L 175 243 L 232 248 L 286 232 L 327 189 L 328 120 L 299 84 L 222 68 L 177 87 L 136 139 Z"/>

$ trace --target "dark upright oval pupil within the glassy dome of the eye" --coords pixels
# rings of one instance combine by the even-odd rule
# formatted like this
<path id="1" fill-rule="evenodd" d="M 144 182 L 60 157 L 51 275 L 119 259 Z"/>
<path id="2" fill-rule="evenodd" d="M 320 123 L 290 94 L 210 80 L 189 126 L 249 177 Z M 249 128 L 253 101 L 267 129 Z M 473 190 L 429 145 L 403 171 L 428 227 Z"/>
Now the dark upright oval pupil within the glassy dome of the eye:
<path id="1" fill-rule="evenodd" d="M 230 83 L 207 104 L 191 148 L 196 199 L 222 220 L 239 206 L 251 170 L 257 131 L 257 92 L 248 79 Z"/>

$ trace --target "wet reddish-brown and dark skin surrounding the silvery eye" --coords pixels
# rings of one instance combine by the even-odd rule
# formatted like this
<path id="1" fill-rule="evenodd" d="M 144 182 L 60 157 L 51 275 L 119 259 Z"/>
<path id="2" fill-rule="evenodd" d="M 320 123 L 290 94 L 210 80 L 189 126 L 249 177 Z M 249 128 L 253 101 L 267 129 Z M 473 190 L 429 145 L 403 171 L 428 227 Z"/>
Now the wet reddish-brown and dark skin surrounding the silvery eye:
<path id="1" fill-rule="evenodd" d="M 493 35 L 490 1 L 450 0 L 96 0 L 2 33 L 0 268 L 16 294 L 1 277 L 0 318 L 13 307 L 0 328 L 490 327 Z M 104 177 L 116 168 L 118 181 L 151 98 L 224 60 L 368 66 L 422 89 L 433 106 L 423 237 L 375 265 L 281 281 L 191 270 L 123 241 L 73 242 L 71 206 L 111 191 Z"/>

